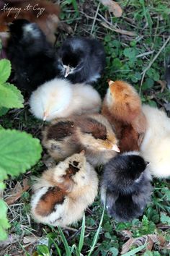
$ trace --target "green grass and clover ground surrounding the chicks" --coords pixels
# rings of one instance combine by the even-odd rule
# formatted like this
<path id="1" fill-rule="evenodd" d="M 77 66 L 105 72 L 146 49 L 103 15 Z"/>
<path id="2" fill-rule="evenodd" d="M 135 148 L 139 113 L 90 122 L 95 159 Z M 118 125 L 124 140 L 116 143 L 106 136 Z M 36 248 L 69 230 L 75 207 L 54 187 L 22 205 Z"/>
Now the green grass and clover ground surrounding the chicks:
<path id="1" fill-rule="evenodd" d="M 99 1 L 65 0 L 60 3 L 63 9 L 61 22 L 66 22 L 66 30 L 71 31 L 71 27 L 72 35 L 94 36 L 104 44 L 107 68 L 102 79 L 95 85 L 102 96 L 107 89 L 107 78 L 122 79 L 135 86 L 143 103 L 158 108 L 164 108 L 164 104 L 169 103 L 169 90 L 165 88 L 162 91 L 158 82 L 164 81 L 166 57 L 170 55 L 168 0 L 119 1 L 123 9 L 120 18 L 112 16 Z M 57 46 L 67 36 L 67 32 L 58 30 Z M 9 114 L 1 118 L 1 124 L 5 128 L 26 130 L 35 137 L 41 137 L 42 122 L 31 116 L 27 105 L 24 110 L 9 111 Z M 4 197 L 12 191 L 17 181 L 40 175 L 45 168 L 42 158 L 27 174 L 19 176 L 17 180 L 8 180 Z M 24 192 L 16 203 L 9 206 L 9 220 L 12 224 L 9 234 L 12 239 L 15 234 L 17 242 L 2 247 L 0 255 L 116 256 L 120 255 L 122 245 L 130 236 L 138 238 L 156 234 L 169 241 L 169 180 L 156 179 L 153 187 L 152 202 L 141 218 L 117 223 L 106 212 L 102 212 L 98 197 L 86 211 L 83 223 L 79 221 L 71 226 L 72 229 L 63 230 L 35 223 L 30 217 L 31 192 Z M 130 252 L 125 255 L 161 256 L 169 255 L 169 252 L 158 242 L 153 245 L 152 252 L 146 248 L 146 244 L 137 244 L 130 247 Z"/>

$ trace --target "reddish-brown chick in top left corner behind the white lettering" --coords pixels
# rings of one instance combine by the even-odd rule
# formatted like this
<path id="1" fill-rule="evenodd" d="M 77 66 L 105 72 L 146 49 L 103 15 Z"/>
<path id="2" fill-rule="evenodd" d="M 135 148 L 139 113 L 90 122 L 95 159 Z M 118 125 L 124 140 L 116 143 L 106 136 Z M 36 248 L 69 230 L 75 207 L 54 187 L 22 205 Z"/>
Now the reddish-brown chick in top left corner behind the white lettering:
<path id="1" fill-rule="evenodd" d="M 58 27 L 60 7 L 50 1 L 30 0 L 8 2 L 6 8 L 13 8 L 0 14 L 0 33 L 6 33 L 9 23 L 17 19 L 35 22 L 45 33 L 50 43 L 55 43 L 55 31 Z M 2 8 L 3 9 L 3 8 Z M 20 11 L 19 11 L 20 10 Z M 4 47 L 6 42 L 4 41 Z"/>

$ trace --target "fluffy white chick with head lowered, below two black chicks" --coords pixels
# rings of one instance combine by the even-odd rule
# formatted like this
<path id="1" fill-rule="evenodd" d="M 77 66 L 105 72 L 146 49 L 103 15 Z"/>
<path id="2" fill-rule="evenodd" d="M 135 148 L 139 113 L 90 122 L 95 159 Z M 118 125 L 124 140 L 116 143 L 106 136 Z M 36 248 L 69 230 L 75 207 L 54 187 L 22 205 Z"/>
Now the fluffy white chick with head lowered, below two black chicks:
<path id="1" fill-rule="evenodd" d="M 38 119 L 51 121 L 71 114 L 98 112 L 101 98 L 91 85 L 72 85 L 55 78 L 41 85 L 30 97 L 30 109 Z"/>

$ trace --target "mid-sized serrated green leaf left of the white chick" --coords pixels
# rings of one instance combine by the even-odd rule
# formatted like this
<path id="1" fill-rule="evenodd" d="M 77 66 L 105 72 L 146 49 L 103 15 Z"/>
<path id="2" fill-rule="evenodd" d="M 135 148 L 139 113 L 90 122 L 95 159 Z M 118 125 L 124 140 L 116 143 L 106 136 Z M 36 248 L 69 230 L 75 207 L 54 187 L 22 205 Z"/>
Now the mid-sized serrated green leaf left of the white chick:
<path id="1" fill-rule="evenodd" d="M 23 108 L 24 98 L 14 85 L 0 85 L 0 106 L 5 108 Z"/>

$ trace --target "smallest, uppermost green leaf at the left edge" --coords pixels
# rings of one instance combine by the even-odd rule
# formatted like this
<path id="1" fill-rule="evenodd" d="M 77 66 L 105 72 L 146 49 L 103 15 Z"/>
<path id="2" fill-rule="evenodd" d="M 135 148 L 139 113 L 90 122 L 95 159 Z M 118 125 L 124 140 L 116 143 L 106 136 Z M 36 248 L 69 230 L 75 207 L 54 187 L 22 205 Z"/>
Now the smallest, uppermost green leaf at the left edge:
<path id="1" fill-rule="evenodd" d="M 11 74 L 12 65 L 8 59 L 1 59 L 0 61 L 0 84 L 6 82 Z"/>

